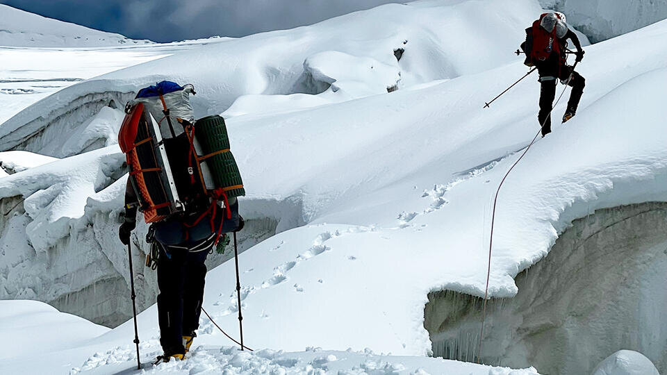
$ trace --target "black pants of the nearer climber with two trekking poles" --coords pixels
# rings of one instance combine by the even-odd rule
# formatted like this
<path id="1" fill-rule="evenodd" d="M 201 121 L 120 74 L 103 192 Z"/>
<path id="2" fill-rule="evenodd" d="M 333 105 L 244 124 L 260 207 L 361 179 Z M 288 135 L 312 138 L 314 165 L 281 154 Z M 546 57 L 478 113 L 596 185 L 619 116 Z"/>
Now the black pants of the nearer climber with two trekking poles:
<path id="1" fill-rule="evenodd" d="M 184 353 L 181 336 L 190 335 L 199 328 L 207 255 L 208 249 L 198 252 L 160 250 L 158 322 L 160 344 L 168 355 Z"/>

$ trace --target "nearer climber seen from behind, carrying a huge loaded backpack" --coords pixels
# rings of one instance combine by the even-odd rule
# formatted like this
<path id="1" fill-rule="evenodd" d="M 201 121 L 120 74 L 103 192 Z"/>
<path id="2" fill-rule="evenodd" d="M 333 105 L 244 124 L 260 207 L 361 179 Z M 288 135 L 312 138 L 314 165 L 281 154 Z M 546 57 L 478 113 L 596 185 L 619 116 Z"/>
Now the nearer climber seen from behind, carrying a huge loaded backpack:
<path id="1" fill-rule="evenodd" d="M 185 358 L 199 326 L 204 261 L 224 246 L 226 233 L 234 233 L 236 246 L 243 226 L 236 197 L 245 190 L 224 119 L 195 121 L 190 94 L 192 85 L 169 81 L 140 90 L 118 135 L 129 168 L 121 242 L 130 246 L 137 210 L 151 224 L 146 239 L 154 250 L 146 264 L 157 268 L 164 351 L 156 363 Z"/>

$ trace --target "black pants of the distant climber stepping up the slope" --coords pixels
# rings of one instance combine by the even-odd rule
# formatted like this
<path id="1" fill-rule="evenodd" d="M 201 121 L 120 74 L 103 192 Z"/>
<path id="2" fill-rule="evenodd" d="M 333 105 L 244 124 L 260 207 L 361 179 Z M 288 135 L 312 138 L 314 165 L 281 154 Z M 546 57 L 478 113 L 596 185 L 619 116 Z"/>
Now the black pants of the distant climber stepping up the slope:
<path id="1" fill-rule="evenodd" d="M 542 135 L 544 136 L 551 133 L 551 111 L 554 99 L 556 98 L 556 78 L 565 81 L 570 76 L 570 73 L 572 73 L 572 79 L 570 79 L 570 83 L 568 83 L 568 85 L 572 87 L 570 101 L 568 101 L 568 112 L 570 113 L 577 112 L 579 100 L 582 99 L 582 94 L 584 93 L 586 80 L 581 74 L 575 72 L 572 67 L 568 66 L 563 66 L 560 69 L 551 66 L 538 66 L 538 72 L 540 74 L 541 88 L 540 113 L 537 115 L 537 119 L 542 126 Z"/>

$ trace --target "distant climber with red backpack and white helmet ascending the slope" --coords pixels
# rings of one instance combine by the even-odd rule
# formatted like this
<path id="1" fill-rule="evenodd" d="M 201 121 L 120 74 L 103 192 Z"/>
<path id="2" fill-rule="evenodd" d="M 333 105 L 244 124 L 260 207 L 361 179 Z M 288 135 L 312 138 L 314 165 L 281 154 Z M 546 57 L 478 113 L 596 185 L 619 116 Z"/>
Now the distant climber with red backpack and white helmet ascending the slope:
<path id="1" fill-rule="evenodd" d="M 582 44 L 566 24 L 566 17 L 561 12 L 543 13 L 532 26 L 526 28 L 526 40 L 521 49 L 526 54 L 525 65 L 537 67 L 541 83 L 540 112 L 538 121 L 542 126 L 542 136 L 551 132 L 551 111 L 556 97 L 556 83 L 570 85 L 572 93 L 568 107 L 563 115 L 563 123 L 577 113 L 579 99 L 582 98 L 586 81 L 574 67 L 567 65 L 567 40 L 572 40 L 577 51 L 575 65 L 584 58 Z"/>

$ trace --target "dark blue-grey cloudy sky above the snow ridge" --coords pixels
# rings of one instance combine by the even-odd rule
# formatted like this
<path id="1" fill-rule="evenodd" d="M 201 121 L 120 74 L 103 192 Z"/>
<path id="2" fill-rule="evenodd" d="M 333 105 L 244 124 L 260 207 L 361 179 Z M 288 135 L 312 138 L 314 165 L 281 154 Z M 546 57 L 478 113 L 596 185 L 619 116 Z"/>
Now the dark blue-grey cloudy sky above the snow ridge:
<path id="1" fill-rule="evenodd" d="M 408 0 L 0 0 L 0 3 L 155 42 L 293 28 Z"/>

